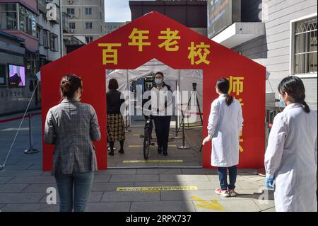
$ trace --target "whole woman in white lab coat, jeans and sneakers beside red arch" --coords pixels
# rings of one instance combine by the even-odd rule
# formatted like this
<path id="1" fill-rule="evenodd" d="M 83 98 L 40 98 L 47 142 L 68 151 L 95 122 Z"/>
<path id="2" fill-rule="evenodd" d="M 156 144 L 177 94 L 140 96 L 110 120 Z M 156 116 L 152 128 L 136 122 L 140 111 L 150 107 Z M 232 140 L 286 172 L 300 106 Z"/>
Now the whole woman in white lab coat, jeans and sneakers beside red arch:
<path id="1" fill-rule="evenodd" d="M 208 118 L 208 137 L 202 145 L 212 140 L 211 165 L 218 167 L 220 188 L 216 193 L 223 196 L 236 196 L 235 182 L 239 163 L 239 135 L 242 130 L 242 107 L 239 101 L 228 94 L 228 79 L 218 79 L 216 93 L 219 97 L 211 104 Z M 230 183 L 228 183 L 227 169 Z"/>

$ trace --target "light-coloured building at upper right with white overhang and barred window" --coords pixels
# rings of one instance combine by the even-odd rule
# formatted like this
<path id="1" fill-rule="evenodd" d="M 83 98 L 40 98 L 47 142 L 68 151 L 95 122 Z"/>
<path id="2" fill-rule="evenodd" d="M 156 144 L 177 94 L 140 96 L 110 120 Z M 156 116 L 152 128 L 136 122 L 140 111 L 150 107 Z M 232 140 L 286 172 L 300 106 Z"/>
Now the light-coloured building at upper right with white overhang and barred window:
<path id="1" fill-rule="evenodd" d="M 276 98 L 284 77 L 302 78 L 305 101 L 317 111 L 317 0 L 209 0 L 208 6 L 209 38 L 264 65 L 266 92 Z M 224 17 L 229 23 L 218 21 Z"/>

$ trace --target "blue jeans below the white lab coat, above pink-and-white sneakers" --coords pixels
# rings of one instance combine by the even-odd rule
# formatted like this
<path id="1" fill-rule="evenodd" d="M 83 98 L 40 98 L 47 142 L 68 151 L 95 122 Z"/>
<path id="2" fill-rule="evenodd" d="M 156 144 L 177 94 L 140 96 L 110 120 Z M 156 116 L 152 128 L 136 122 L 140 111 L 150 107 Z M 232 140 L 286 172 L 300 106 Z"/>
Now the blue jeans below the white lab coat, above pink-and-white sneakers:
<path id="1" fill-rule="evenodd" d="M 235 188 L 237 177 L 237 166 L 228 167 L 230 176 L 230 184 L 228 184 L 227 167 L 218 167 L 218 179 L 220 180 L 220 188 L 222 190 L 232 190 Z"/>

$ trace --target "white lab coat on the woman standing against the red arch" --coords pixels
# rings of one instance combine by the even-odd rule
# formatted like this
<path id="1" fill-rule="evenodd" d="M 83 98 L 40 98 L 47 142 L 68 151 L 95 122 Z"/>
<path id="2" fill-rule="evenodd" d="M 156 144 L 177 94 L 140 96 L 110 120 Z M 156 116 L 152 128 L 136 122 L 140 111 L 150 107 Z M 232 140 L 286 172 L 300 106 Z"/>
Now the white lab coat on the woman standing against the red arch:
<path id="1" fill-rule="evenodd" d="M 212 136 L 211 165 L 218 167 L 236 166 L 239 163 L 242 107 L 235 99 L 227 106 L 225 98 L 223 94 L 212 102 L 208 118 L 208 134 Z"/>

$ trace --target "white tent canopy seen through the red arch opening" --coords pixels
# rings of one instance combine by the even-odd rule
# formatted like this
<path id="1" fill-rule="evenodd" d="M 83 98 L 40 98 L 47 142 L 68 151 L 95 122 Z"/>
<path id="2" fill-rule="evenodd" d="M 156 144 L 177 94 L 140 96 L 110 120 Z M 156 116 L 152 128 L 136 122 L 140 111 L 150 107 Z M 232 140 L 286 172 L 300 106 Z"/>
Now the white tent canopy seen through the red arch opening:
<path id="1" fill-rule="evenodd" d="M 202 70 L 199 69 L 172 69 L 166 64 L 163 64 L 163 62 L 153 59 L 136 69 L 116 69 L 110 74 L 107 74 L 106 79 L 107 84 L 110 79 L 117 79 L 119 84 L 118 91 L 123 92 L 130 90 L 129 86 L 131 81 L 152 76 L 156 72 L 163 72 L 164 81 L 166 84 L 171 86 L 172 91 L 180 91 L 181 93 L 182 91 L 189 91 L 188 96 L 190 96 L 190 92 L 193 90 L 192 84 L 196 83 L 196 94 L 198 97 L 199 105 L 202 106 L 203 73 Z M 108 87 L 106 87 L 106 89 L 108 91 Z M 177 100 L 177 102 L 177 104 L 184 105 L 187 104 L 187 99 L 182 99 L 182 101 Z"/>

